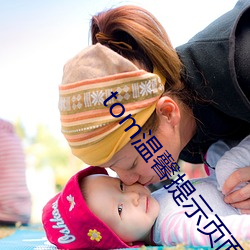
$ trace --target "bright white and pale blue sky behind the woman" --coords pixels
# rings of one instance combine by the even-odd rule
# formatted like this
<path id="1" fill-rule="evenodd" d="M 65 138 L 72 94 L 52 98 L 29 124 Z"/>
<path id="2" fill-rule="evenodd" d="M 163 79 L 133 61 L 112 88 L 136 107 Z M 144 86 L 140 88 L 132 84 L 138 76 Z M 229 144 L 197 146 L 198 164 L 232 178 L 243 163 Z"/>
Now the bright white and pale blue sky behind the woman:
<path id="1" fill-rule="evenodd" d="M 91 15 L 136 4 L 163 24 L 174 47 L 231 9 L 236 0 L 0 0 L 0 117 L 30 134 L 43 123 L 61 137 L 58 85 L 65 62 L 88 46 Z"/>

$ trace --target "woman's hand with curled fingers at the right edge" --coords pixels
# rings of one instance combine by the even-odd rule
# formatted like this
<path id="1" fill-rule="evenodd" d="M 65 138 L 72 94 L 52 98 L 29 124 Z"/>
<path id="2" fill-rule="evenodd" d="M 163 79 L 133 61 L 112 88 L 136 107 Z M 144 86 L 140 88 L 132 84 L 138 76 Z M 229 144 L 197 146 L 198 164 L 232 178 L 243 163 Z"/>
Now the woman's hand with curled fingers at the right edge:
<path id="1" fill-rule="evenodd" d="M 243 188 L 231 191 L 240 183 L 248 182 Z M 224 183 L 222 192 L 224 201 L 241 210 L 243 214 L 250 214 L 250 166 L 233 172 Z"/>

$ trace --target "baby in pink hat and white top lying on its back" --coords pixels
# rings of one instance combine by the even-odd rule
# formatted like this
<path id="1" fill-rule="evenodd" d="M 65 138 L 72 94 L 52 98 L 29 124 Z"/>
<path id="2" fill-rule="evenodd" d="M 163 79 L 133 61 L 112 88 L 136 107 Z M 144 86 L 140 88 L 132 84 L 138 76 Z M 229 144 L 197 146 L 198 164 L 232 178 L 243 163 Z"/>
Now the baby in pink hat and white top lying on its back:
<path id="1" fill-rule="evenodd" d="M 244 151 L 249 139 L 237 147 Z M 250 239 L 250 216 L 240 215 L 223 201 L 213 173 L 188 181 L 183 176 L 179 174 L 172 184 L 150 194 L 141 184 L 127 186 L 103 168 L 88 167 L 44 207 L 47 238 L 60 249 L 178 243 L 211 247 L 227 243 L 242 249 L 236 238 Z"/>

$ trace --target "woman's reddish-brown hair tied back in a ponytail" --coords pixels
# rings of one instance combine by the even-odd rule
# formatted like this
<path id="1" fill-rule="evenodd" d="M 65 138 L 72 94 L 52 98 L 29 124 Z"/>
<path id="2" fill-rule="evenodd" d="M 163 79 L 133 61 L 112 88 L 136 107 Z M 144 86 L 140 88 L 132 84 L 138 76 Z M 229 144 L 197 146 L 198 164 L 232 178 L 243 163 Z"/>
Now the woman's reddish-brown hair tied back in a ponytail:
<path id="1" fill-rule="evenodd" d="M 190 93 L 181 81 L 181 61 L 165 29 L 150 12 L 130 5 L 100 12 L 92 17 L 91 38 L 93 44 L 99 42 L 149 72 L 157 69 L 166 78 L 165 93 L 189 106 Z M 143 130 L 156 128 L 156 118 L 154 112 Z"/>

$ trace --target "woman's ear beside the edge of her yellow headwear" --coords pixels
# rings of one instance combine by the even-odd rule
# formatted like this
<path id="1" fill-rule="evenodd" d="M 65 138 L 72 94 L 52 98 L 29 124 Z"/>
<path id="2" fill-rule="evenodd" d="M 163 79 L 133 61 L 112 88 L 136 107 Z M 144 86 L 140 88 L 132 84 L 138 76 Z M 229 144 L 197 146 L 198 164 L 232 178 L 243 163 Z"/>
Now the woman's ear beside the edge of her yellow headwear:
<path id="1" fill-rule="evenodd" d="M 169 96 L 162 96 L 156 104 L 156 113 L 160 120 L 164 119 L 172 126 L 180 122 L 180 109 L 178 104 Z"/>

